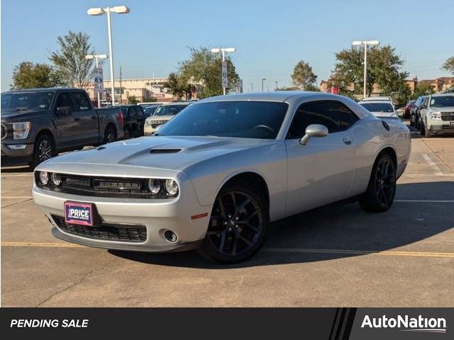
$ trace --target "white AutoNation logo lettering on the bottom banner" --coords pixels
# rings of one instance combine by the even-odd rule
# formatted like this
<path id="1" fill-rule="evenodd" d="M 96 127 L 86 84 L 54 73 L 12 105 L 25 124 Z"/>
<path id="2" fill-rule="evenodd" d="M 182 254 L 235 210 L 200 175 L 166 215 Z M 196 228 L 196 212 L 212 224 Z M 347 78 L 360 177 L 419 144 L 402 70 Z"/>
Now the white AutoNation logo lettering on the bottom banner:
<path id="1" fill-rule="evenodd" d="M 399 331 L 416 331 L 423 333 L 446 333 L 446 319 L 444 317 L 428 318 L 419 315 L 409 317 L 408 315 L 397 315 L 397 317 L 369 317 L 365 315 L 361 328 L 398 328 Z"/>

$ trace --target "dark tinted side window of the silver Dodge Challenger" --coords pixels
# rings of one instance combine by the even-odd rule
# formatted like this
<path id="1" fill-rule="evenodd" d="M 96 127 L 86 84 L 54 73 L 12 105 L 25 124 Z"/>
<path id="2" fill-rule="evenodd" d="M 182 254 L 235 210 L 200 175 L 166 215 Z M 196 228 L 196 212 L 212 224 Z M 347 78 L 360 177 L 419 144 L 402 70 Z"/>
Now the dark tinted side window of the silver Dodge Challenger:
<path id="1" fill-rule="evenodd" d="M 304 103 L 297 109 L 287 137 L 302 137 L 311 124 L 325 125 L 329 132 L 343 131 L 350 128 L 356 120 L 358 116 L 338 101 Z"/>

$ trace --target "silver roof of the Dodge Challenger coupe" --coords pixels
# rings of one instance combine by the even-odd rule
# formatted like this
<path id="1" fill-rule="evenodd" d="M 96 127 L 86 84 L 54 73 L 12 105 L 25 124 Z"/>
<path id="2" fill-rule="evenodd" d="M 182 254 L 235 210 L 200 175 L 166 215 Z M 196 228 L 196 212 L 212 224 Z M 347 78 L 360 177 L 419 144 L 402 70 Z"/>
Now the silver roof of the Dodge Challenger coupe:
<path id="1" fill-rule="evenodd" d="M 281 101 L 285 102 L 289 98 L 319 98 L 319 99 L 338 99 L 337 94 L 327 94 L 324 92 L 311 91 L 271 91 L 256 92 L 253 94 L 228 94 L 226 96 L 214 96 L 202 99 L 196 103 L 207 103 L 211 101 Z M 196 104 L 194 103 L 194 104 Z"/>

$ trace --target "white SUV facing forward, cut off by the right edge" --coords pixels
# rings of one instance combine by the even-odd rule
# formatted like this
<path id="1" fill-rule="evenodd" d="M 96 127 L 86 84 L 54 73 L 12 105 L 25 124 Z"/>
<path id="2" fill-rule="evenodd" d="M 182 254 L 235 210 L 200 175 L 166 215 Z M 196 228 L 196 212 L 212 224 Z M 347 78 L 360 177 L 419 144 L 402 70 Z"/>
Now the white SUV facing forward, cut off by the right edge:
<path id="1" fill-rule="evenodd" d="M 421 106 L 421 135 L 454 132 L 454 94 L 432 94 Z"/>

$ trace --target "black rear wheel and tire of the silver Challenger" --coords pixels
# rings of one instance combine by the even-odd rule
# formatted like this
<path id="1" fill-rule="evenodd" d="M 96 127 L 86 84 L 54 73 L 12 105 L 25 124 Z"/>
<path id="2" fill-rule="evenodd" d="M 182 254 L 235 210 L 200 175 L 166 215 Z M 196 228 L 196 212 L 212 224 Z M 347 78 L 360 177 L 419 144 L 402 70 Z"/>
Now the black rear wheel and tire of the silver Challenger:
<path id="1" fill-rule="evenodd" d="M 359 203 L 368 212 L 384 212 L 394 202 L 396 195 L 396 166 L 388 154 L 380 154 L 370 175 L 367 191 Z"/>

